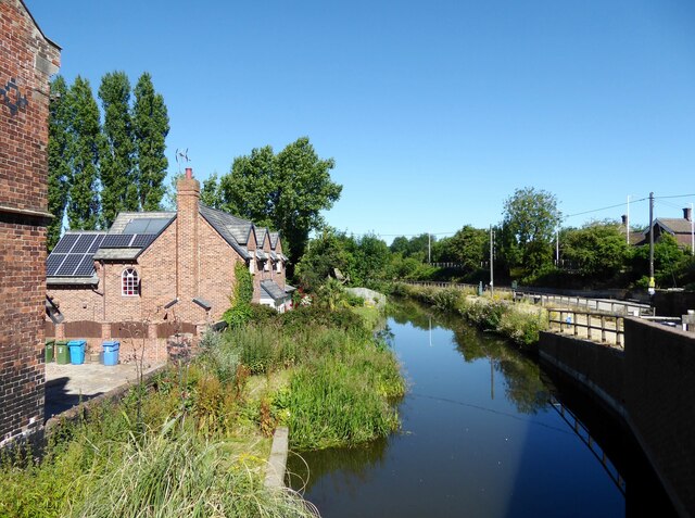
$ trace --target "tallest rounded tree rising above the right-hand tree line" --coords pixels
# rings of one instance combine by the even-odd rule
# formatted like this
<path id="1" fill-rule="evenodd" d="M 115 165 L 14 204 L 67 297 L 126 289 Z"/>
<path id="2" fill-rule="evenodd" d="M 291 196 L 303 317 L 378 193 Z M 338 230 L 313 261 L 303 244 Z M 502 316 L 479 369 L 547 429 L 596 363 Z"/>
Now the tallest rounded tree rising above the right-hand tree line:
<path id="1" fill-rule="evenodd" d="M 555 194 L 533 187 L 517 189 L 504 204 L 502 253 L 507 267 L 532 273 L 552 264 L 560 220 Z"/>

